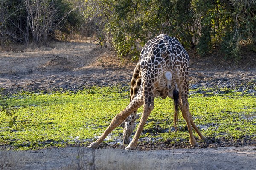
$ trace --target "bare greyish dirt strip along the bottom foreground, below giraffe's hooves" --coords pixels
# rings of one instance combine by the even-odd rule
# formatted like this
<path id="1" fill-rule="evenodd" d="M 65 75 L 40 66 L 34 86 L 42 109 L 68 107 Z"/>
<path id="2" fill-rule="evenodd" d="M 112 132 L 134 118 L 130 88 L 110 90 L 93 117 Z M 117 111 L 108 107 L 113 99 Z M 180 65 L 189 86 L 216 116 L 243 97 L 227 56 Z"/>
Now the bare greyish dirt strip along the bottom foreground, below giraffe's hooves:
<path id="1" fill-rule="evenodd" d="M 255 170 L 256 146 L 131 151 L 81 147 L 0 151 L 10 170 Z M 1 158 L 0 158 L 1 159 Z M 94 160 L 93 160 L 94 159 Z"/>

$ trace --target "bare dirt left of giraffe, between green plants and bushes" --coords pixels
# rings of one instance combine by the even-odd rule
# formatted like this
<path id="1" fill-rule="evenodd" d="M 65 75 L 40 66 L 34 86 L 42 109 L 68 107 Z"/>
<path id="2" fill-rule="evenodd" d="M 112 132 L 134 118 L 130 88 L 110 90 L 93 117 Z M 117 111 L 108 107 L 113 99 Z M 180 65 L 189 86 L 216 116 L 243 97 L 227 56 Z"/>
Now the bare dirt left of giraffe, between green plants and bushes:
<path id="1" fill-rule="evenodd" d="M 92 44 L 0 53 L 0 87 L 17 91 L 81 90 L 87 86 L 128 85 L 133 68 L 118 67 Z M 108 63 L 102 62 L 108 61 Z M 105 66 L 106 64 L 106 66 Z M 117 66 L 116 66 L 117 64 Z M 119 64 L 120 65 L 120 64 Z M 131 65 L 131 64 L 130 64 Z"/>

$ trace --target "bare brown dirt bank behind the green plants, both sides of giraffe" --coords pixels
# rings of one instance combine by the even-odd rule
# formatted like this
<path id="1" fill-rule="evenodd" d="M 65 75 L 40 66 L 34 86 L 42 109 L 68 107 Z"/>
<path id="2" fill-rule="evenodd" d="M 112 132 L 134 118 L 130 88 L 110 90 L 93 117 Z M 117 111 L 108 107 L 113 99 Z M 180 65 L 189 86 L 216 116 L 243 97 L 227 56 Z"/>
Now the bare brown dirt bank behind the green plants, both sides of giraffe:
<path id="1" fill-rule="evenodd" d="M 237 65 L 221 56 L 190 57 L 190 88 L 227 87 L 253 93 L 256 56 Z M 114 54 L 113 54 L 114 55 Z M 90 43 L 58 43 L 47 48 L 0 52 L 0 87 L 17 91 L 81 90 L 88 86 L 129 85 L 136 63 L 116 60 Z"/>

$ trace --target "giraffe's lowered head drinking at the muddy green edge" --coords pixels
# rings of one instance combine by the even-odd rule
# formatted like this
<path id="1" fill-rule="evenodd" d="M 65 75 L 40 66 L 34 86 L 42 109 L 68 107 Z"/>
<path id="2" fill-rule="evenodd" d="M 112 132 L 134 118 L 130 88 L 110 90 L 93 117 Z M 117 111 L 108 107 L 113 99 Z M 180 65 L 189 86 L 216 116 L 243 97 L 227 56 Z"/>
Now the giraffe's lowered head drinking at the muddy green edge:
<path id="1" fill-rule="evenodd" d="M 128 116 L 124 122 L 122 122 L 121 127 L 123 128 L 123 144 L 129 144 L 130 143 L 130 136 L 131 133 L 134 131 L 136 127 L 135 120 L 139 119 L 140 115 L 136 115 L 136 112 L 131 113 L 130 116 Z"/>

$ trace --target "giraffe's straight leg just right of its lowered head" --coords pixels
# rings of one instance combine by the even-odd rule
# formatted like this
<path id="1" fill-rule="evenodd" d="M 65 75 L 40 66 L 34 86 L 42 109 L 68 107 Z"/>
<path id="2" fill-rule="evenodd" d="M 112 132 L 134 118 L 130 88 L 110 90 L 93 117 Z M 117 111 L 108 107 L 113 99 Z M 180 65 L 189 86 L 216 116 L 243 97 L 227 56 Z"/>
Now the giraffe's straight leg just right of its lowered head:
<path id="1" fill-rule="evenodd" d="M 125 147 L 126 150 L 135 150 L 136 149 L 136 145 L 140 138 L 140 134 L 143 130 L 143 127 L 144 127 L 145 123 L 147 122 L 148 116 L 150 115 L 151 111 L 154 109 L 154 97 L 151 96 L 151 99 L 147 99 L 147 101 L 149 101 L 149 102 L 146 102 L 144 104 L 143 113 L 142 113 L 142 116 L 140 119 L 140 123 L 138 125 L 138 129 L 137 129 L 135 136 L 132 139 L 131 143 L 127 147 Z"/>

